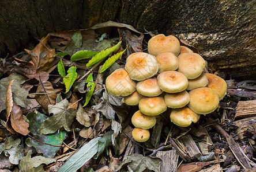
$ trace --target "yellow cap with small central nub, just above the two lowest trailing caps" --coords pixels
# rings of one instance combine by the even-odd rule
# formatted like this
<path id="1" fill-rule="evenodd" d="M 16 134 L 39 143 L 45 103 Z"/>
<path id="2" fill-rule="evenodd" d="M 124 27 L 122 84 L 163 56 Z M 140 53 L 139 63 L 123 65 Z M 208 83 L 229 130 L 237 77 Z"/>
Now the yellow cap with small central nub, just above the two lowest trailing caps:
<path id="1" fill-rule="evenodd" d="M 167 105 L 161 96 L 142 97 L 138 107 L 142 114 L 149 116 L 159 115 L 167 110 Z"/>

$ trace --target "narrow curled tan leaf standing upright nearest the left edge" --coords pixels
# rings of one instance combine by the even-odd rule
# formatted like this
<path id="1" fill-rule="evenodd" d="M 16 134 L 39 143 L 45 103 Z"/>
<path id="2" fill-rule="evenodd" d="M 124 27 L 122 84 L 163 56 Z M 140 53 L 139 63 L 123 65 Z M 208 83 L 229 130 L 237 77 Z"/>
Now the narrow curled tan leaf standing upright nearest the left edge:
<path id="1" fill-rule="evenodd" d="M 7 88 L 7 92 L 6 92 L 6 101 L 5 101 L 5 105 L 6 105 L 6 128 L 8 131 L 10 131 L 12 134 L 16 134 L 16 132 L 13 130 L 13 127 L 11 125 L 10 122 L 10 114 L 12 112 L 12 108 L 13 108 L 13 93 L 12 93 L 12 83 L 13 83 L 14 79 L 12 79 L 8 85 Z"/>

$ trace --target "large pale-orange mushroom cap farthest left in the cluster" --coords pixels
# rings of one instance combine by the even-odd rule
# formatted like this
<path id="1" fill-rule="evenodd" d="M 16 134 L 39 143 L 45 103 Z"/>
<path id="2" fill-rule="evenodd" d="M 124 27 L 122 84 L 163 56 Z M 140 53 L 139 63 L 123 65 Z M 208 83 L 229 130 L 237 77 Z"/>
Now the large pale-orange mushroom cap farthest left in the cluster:
<path id="1" fill-rule="evenodd" d="M 129 96 L 136 91 L 136 83 L 130 79 L 125 69 L 120 68 L 107 77 L 106 88 L 111 95 Z"/>

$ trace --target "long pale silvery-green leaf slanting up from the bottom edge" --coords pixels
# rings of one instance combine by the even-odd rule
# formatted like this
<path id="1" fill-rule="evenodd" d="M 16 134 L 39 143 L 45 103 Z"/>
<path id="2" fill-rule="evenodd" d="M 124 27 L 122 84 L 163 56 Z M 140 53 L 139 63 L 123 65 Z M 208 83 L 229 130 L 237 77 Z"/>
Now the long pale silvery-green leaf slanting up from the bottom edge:
<path id="1" fill-rule="evenodd" d="M 70 157 L 58 170 L 58 172 L 71 172 L 80 169 L 96 153 L 98 142 L 101 137 L 92 139 L 89 143 L 84 144 L 72 157 Z"/>

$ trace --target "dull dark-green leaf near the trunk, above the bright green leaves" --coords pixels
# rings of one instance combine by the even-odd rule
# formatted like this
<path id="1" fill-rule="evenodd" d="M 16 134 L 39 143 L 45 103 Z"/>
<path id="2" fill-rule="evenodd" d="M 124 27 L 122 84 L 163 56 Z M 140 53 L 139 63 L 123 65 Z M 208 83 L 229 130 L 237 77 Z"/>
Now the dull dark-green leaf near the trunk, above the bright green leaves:
<path id="1" fill-rule="evenodd" d="M 77 50 L 80 49 L 81 46 L 82 46 L 82 34 L 81 34 L 81 31 L 79 30 L 73 34 L 73 36 L 71 37 L 71 41 L 67 44 L 63 52 L 72 56 L 72 54 L 77 52 Z"/>

